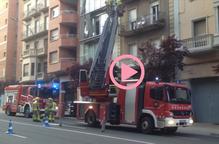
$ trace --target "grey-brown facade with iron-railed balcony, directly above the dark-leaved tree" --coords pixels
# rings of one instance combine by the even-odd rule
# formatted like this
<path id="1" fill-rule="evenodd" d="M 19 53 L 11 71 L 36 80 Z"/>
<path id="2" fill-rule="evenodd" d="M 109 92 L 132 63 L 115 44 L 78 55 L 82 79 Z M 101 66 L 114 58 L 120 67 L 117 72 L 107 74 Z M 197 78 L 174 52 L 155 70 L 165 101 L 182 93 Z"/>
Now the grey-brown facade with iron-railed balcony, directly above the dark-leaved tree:
<path id="1" fill-rule="evenodd" d="M 139 56 L 138 48 L 151 41 L 159 47 L 161 38 L 169 35 L 168 0 L 124 0 L 121 18 L 121 53 Z"/>

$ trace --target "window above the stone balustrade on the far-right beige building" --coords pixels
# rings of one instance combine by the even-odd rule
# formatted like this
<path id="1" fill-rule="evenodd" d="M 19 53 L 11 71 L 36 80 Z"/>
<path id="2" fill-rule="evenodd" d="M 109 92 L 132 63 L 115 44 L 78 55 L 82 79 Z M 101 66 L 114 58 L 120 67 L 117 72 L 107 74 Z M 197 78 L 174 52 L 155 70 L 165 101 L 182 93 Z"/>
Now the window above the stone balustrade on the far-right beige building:
<path id="1" fill-rule="evenodd" d="M 194 36 L 206 34 L 206 19 L 194 21 Z"/>

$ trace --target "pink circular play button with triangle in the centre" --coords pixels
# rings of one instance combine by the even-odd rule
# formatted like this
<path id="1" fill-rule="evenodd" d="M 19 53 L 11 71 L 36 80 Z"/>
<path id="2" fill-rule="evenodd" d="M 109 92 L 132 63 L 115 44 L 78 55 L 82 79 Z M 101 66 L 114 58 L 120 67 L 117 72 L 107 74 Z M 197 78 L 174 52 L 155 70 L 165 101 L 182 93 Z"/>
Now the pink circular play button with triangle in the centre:
<path id="1" fill-rule="evenodd" d="M 123 85 L 123 84 L 120 84 L 119 82 L 117 82 L 117 80 L 115 79 L 115 77 L 113 75 L 113 69 L 117 63 L 121 63 L 121 81 L 122 82 L 129 80 L 132 76 L 134 76 L 138 73 L 138 71 L 136 71 L 135 69 L 131 68 L 129 65 L 122 62 L 122 61 L 127 61 L 127 60 L 128 61 L 131 60 L 131 61 L 137 63 L 137 65 L 140 67 L 141 74 L 140 74 L 139 79 L 137 81 L 135 81 L 135 83 L 132 82 L 131 84 Z M 125 90 L 130 90 L 130 89 L 133 89 L 133 88 L 136 88 L 137 86 L 139 86 L 144 79 L 144 74 L 145 74 L 144 65 L 141 62 L 141 60 L 133 55 L 128 55 L 128 54 L 121 55 L 121 56 L 115 58 L 115 60 L 110 65 L 110 69 L 109 69 L 109 75 L 110 75 L 111 81 L 118 88 L 125 89 Z"/>

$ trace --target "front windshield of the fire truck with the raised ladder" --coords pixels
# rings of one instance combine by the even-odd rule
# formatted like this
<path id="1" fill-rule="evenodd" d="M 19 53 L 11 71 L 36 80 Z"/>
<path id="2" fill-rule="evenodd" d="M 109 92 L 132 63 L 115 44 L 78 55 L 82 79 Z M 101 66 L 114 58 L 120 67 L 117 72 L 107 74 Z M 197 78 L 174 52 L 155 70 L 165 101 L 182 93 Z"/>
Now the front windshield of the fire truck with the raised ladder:
<path id="1" fill-rule="evenodd" d="M 191 95 L 188 89 L 167 86 L 167 97 L 170 103 L 191 104 Z"/>

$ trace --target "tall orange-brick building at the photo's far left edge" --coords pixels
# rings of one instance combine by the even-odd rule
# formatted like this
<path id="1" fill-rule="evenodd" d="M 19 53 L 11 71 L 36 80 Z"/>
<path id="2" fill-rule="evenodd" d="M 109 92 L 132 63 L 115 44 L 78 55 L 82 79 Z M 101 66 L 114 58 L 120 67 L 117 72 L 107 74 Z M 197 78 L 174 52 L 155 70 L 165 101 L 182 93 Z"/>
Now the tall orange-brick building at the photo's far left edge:
<path id="1" fill-rule="evenodd" d="M 0 0 L 0 80 L 16 81 L 18 0 Z"/>

